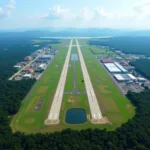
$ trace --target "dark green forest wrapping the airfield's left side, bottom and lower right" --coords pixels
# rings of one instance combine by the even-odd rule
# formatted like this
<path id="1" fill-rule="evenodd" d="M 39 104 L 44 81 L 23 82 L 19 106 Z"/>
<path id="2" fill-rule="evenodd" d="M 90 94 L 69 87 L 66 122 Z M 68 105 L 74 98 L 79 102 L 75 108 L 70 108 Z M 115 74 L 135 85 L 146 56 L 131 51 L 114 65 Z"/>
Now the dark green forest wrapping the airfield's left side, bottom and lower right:
<path id="1" fill-rule="evenodd" d="M 1 40 L 1 39 L 0 39 Z M 4 50 L 7 49 L 7 50 Z M 34 80 L 8 81 L 15 72 L 13 65 L 34 51 L 31 39 L 0 41 L 0 149 L 1 150 L 149 150 L 150 90 L 127 96 L 136 106 L 136 115 L 116 131 L 71 129 L 56 133 L 12 133 L 11 116 L 17 113 L 23 97 Z M 18 90 L 19 89 L 19 90 Z"/>

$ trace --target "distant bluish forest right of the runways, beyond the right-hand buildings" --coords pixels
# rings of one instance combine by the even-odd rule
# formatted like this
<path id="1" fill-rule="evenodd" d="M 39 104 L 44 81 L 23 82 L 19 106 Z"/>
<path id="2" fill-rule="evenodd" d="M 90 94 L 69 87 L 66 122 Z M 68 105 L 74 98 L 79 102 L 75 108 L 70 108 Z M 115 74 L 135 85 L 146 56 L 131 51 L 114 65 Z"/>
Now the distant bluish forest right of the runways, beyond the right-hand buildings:
<path id="1" fill-rule="evenodd" d="M 150 56 L 150 37 L 112 37 L 108 39 L 89 40 L 90 45 L 102 45 L 121 50 L 128 54 Z"/>

